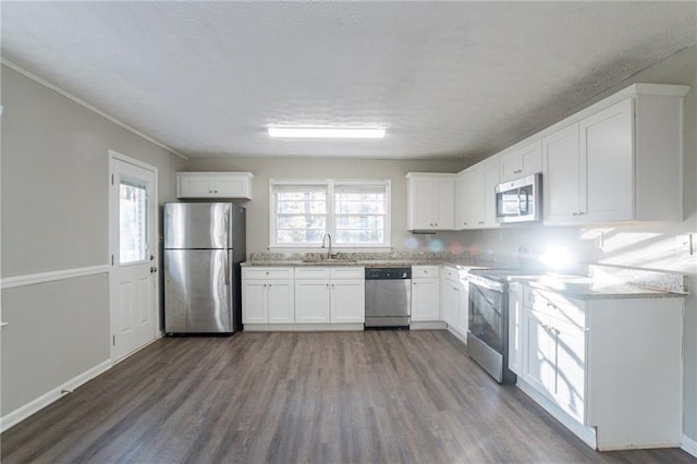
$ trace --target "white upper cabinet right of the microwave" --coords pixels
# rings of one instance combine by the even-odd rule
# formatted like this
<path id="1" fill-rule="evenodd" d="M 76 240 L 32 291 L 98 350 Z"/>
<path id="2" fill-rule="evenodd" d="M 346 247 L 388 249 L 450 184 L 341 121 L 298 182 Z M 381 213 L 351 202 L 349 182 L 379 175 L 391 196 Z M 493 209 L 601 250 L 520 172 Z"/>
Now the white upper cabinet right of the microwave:
<path id="1" fill-rule="evenodd" d="M 545 223 L 682 221 L 682 97 L 688 89 L 637 84 L 546 136 Z"/>

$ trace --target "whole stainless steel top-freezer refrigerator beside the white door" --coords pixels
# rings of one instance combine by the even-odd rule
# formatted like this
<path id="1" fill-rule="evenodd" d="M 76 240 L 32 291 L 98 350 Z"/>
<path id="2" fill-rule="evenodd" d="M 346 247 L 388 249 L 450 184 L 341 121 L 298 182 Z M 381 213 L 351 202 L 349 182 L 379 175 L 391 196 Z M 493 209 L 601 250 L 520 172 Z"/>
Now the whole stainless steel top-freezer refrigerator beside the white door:
<path id="1" fill-rule="evenodd" d="M 164 331 L 242 330 L 245 210 L 232 203 L 164 204 Z"/>

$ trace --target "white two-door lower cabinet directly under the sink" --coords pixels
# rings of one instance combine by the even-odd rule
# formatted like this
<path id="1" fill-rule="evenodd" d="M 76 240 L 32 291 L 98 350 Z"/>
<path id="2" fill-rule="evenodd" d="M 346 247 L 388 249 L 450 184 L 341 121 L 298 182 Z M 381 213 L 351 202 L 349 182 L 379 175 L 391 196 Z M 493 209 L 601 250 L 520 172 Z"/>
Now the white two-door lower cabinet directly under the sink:
<path id="1" fill-rule="evenodd" d="M 296 269 L 296 323 L 363 323 L 364 321 L 365 268 Z"/>

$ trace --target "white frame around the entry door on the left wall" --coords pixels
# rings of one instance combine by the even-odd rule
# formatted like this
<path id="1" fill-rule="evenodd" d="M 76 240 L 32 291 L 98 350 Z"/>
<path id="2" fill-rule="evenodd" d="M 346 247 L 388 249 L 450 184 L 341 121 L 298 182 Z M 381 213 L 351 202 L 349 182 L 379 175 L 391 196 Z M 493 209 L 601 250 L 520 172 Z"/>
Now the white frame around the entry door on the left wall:
<path id="1" fill-rule="evenodd" d="M 152 184 L 152 204 L 154 204 L 154 209 L 155 209 L 155 215 L 152 217 L 152 225 L 154 225 L 154 235 L 155 235 L 155 247 L 152 249 L 152 255 L 155 256 L 155 265 L 159 267 L 159 262 L 160 262 L 160 220 L 159 220 L 159 198 L 158 198 L 158 182 L 159 182 L 159 178 L 158 178 L 158 169 L 155 166 L 148 164 L 144 161 L 140 161 L 138 159 L 135 158 L 131 158 L 130 156 L 120 154 L 115 150 L 109 149 L 109 175 L 107 176 L 107 188 L 109 191 L 109 207 L 107 208 L 108 210 L 108 215 L 109 215 L 109 220 L 108 220 L 108 224 L 109 224 L 109 230 L 108 232 L 108 241 L 109 241 L 109 247 L 108 247 L 108 256 L 107 256 L 107 262 L 109 264 L 109 338 L 111 340 L 108 340 L 109 342 L 109 357 L 111 359 L 112 364 L 115 364 L 118 362 L 121 362 L 123 359 L 125 359 L 126 357 L 129 357 L 131 354 L 137 352 L 138 350 L 136 350 L 135 352 L 122 357 L 119 361 L 114 359 L 114 343 L 113 343 L 113 321 L 114 321 L 114 316 L 115 316 L 115 312 L 117 308 L 114 307 L 113 304 L 113 279 L 112 279 L 112 274 L 113 274 L 113 269 L 114 269 L 114 257 L 118 255 L 118 249 L 115 249 L 115 227 L 117 227 L 117 218 L 118 218 L 118 211 L 115 208 L 115 198 L 114 198 L 114 188 L 112 188 L 113 185 L 113 172 L 114 172 L 114 163 L 115 161 L 121 161 L 121 162 L 125 162 L 129 164 L 133 164 L 137 168 L 140 169 L 145 169 L 146 171 L 150 171 L 152 172 L 152 176 L 155 179 L 155 182 Z M 161 320 L 161 310 L 160 310 L 160 279 L 158 278 L 159 274 L 155 274 L 155 289 L 154 289 L 154 296 L 155 296 L 155 339 L 160 339 L 163 337 L 163 332 L 162 332 L 162 320 Z M 144 345 L 144 346 L 147 346 Z M 143 346 L 142 346 L 143 347 Z"/>

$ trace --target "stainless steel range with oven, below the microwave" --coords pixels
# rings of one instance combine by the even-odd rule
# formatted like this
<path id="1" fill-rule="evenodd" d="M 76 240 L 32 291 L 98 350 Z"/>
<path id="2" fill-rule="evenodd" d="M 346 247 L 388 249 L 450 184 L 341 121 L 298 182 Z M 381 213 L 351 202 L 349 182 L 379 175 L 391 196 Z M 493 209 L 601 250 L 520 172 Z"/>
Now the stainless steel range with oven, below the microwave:
<path id="1" fill-rule="evenodd" d="M 467 353 L 499 383 L 514 383 L 509 369 L 509 282 L 519 271 L 469 271 L 469 330 Z"/>

